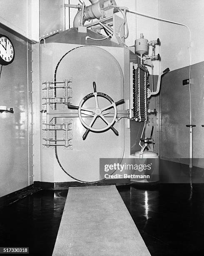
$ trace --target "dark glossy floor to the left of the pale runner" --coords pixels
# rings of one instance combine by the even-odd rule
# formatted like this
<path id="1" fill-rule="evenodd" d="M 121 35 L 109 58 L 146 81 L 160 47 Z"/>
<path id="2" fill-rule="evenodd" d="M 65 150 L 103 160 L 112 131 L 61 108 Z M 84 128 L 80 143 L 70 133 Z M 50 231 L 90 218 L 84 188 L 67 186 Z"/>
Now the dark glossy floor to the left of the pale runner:
<path id="1" fill-rule="evenodd" d="M 0 247 L 29 247 L 29 255 L 52 255 L 67 190 L 41 190 L 0 210 Z"/>

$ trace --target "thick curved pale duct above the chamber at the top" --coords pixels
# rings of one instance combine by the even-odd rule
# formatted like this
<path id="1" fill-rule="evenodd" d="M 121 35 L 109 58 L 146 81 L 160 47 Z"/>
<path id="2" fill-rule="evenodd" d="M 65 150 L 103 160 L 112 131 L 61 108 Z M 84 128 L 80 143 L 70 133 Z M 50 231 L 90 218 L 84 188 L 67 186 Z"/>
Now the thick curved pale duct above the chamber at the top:
<path id="1" fill-rule="evenodd" d="M 100 19 L 103 15 L 102 8 L 105 6 L 108 6 L 109 4 L 112 4 L 114 0 L 89 0 L 92 4 L 89 6 L 86 6 L 84 8 L 84 17 L 83 22 L 81 23 L 82 18 L 82 10 L 79 10 L 74 18 L 73 26 L 74 28 L 77 28 L 79 26 L 83 26 L 85 21 L 91 20 L 91 19 Z M 115 2 L 114 2 L 115 3 Z"/>

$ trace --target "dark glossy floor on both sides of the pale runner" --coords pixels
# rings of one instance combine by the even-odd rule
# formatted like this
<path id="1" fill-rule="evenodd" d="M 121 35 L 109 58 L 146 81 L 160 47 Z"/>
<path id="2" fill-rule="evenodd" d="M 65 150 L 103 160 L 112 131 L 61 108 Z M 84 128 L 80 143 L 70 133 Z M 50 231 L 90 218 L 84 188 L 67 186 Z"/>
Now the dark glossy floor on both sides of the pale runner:
<path id="1" fill-rule="evenodd" d="M 204 255 L 204 185 L 117 187 L 152 256 Z M 52 255 L 67 190 L 41 190 L 0 210 L 0 246 Z"/>

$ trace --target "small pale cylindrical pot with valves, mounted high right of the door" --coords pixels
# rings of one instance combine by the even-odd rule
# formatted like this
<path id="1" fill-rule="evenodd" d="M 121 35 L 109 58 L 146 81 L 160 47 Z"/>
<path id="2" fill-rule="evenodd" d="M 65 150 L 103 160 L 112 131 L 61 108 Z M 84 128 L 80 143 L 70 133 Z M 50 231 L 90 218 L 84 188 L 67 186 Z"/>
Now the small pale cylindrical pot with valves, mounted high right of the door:
<path id="1" fill-rule="evenodd" d="M 135 53 L 140 55 L 141 58 L 141 64 L 142 60 L 150 59 L 152 60 L 159 60 L 160 55 L 155 55 L 155 45 L 160 44 L 159 38 L 154 41 L 148 41 L 146 38 L 144 38 L 143 33 L 140 34 L 140 38 L 135 40 Z M 149 52 L 149 45 L 152 45 L 152 56 L 145 56 L 142 58 L 143 54 L 148 54 Z"/>

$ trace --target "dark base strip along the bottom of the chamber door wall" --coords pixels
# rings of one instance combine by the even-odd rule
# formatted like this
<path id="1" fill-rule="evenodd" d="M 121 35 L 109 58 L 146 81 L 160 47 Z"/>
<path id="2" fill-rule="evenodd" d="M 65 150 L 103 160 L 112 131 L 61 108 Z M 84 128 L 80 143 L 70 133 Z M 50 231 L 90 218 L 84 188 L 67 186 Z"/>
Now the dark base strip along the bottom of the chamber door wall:
<path id="1" fill-rule="evenodd" d="M 34 182 L 34 187 L 40 187 L 47 190 L 61 190 L 68 189 L 69 187 L 87 187 L 87 186 L 106 186 L 106 185 L 127 185 L 130 183 L 130 179 L 106 179 L 101 182 L 87 184 L 81 182 Z"/>

